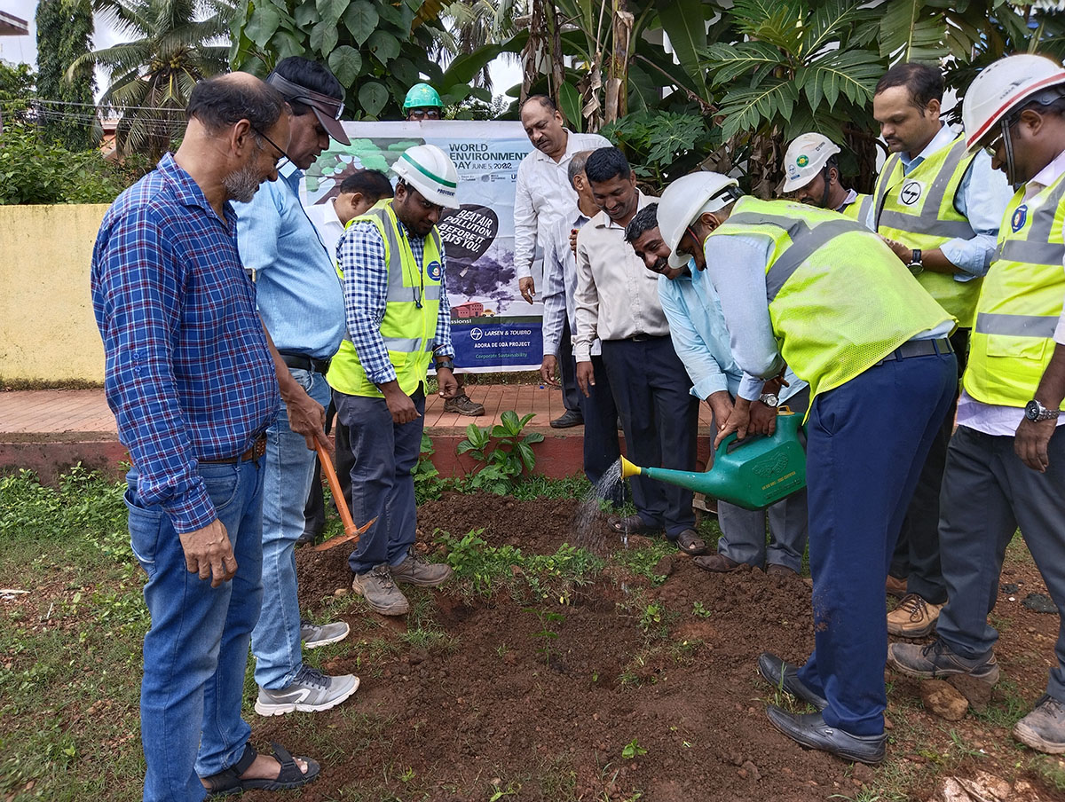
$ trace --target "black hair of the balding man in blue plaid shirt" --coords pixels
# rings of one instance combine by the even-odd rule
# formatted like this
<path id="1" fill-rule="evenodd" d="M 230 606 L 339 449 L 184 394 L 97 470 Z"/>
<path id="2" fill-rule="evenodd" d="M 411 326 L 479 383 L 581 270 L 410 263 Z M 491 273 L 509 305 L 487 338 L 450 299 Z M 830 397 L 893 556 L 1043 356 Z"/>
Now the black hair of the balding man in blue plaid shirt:
<path id="1" fill-rule="evenodd" d="M 281 93 L 259 79 L 230 73 L 199 81 L 193 86 L 185 107 L 185 119 L 193 117 L 216 133 L 242 119 L 256 131 L 267 131 L 284 112 Z"/>

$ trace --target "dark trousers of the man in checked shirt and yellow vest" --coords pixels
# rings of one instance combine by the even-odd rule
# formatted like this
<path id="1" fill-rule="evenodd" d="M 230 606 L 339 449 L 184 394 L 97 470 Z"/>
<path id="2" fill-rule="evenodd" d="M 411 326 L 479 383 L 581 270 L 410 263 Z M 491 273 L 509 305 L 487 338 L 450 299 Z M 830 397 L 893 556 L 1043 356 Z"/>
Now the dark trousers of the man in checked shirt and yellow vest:
<path id="1" fill-rule="evenodd" d="M 383 398 L 338 392 L 337 420 L 348 427 L 355 465 L 351 468 L 351 515 L 362 526 L 377 522 L 359 539 L 347 560 L 351 571 L 364 574 L 374 566 L 397 566 L 414 545 L 417 524 L 414 477 L 411 471 L 422 452 L 425 392 L 411 395 L 417 418 L 397 426 Z"/>

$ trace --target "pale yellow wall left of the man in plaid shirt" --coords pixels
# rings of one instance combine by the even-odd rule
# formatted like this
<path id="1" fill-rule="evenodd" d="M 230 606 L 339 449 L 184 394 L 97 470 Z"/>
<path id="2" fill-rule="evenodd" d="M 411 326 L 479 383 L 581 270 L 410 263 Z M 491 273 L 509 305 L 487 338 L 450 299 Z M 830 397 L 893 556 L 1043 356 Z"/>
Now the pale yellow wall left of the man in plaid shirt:
<path id="1" fill-rule="evenodd" d="M 88 266 L 106 209 L 0 206 L 0 378 L 103 381 Z"/>

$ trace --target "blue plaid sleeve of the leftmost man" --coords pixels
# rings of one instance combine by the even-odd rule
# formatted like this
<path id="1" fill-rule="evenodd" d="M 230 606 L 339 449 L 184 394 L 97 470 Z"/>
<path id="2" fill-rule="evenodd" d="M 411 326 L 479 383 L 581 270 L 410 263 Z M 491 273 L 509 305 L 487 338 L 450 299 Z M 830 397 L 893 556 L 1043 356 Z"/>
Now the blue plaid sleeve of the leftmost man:
<path id="1" fill-rule="evenodd" d="M 106 320 L 104 391 L 138 473 L 138 495 L 146 505 L 162 505 L 179 534 L 195 531 L 217 514 L 196 470 L 174 377 L 184 280 L 179 260 L 141 210 L 118 218 L 94 262 L 94 300 Z"/>

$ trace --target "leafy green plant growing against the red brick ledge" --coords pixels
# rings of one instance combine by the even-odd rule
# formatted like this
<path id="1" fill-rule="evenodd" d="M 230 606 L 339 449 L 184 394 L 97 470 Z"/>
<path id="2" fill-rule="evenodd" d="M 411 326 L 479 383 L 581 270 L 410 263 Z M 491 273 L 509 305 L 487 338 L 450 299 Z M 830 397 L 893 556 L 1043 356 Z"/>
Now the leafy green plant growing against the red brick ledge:
<path id="1" fill-rule="evenodd" d="M 528 422 L 535 418 L 529 412 L 522 418 L 508 409 L 501 422 L 492 427 L 466 426 L 466 439 L 458 444 L 458 454 L 469 454 L 481 467 L 468 478 L 473 490 L 488 490 L 496 495 L 506 495 L 514 486 L 514 480 L 523 472 L 531 472 L 536 465 L 532 444 L 543 441 L 539 431 L 523 433 Z"/>

